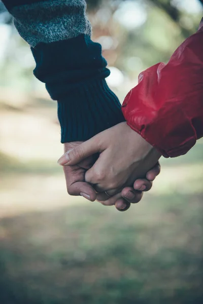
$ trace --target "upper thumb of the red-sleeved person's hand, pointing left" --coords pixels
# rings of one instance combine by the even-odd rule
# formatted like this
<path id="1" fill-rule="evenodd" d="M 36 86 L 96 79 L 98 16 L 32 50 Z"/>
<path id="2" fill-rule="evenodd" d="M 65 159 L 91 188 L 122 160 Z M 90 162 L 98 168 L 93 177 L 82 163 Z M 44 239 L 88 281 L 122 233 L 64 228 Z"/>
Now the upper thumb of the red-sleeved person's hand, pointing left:
<path id="1" fill-rule="evenodd" d="M 67 151 L 58 160 L 61 166 L 76 165 L 99 151 L 96 136 Z"/>

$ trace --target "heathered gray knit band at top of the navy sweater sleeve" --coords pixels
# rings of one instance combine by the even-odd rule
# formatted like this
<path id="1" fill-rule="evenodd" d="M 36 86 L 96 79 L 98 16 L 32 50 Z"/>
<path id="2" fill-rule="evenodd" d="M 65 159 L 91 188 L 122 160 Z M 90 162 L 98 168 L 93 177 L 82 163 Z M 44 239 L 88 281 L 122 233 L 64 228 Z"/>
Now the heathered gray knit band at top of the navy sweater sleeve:
<path id="1" fill-rule="evenodd" d="M 17 2 L 17 1 L 16 1 Z M 91 35 L 85 0 L 52 0 L 15 6 L 14 24 L 31 47 Z"/>

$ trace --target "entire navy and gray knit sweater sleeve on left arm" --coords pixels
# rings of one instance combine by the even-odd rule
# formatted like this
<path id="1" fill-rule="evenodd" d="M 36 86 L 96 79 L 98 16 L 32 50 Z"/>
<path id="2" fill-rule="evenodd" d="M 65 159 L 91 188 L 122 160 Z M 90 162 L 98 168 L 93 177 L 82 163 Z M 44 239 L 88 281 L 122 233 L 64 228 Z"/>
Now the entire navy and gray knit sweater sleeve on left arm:
<path id="1" fill-rule="evenodd" d="M 61 142 L 83 141 L 122 121 L 84 0 L 3 0 L 30 45 L 35 76 L 58 103 Z"/>

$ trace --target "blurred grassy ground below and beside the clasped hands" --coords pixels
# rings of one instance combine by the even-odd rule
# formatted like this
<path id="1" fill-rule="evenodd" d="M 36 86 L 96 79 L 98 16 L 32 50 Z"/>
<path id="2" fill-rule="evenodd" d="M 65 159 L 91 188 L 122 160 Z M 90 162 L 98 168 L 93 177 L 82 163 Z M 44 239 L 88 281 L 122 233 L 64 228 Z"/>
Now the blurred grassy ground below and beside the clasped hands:
<path id="1" fill-rule="evenodd" d="M 66 195 L 58 127 L 27 108 L 0 117 L 0 134 L 11 119 L 16 134 L 0 135 L 0 303 L 202 303 L 203 142 L 163 160 L 153 190 L 119 213 Z"/>

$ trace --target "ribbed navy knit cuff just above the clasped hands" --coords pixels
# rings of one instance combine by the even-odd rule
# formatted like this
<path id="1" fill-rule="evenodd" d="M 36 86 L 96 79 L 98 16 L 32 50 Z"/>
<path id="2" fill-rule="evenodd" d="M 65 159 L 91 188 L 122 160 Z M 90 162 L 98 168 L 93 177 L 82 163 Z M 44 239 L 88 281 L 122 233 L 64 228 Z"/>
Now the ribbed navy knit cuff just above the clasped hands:
<path id="1" fill-rule="evenodd" d="M 61 143 L 85 141 L 125 121 L 121 104 L 106 81 L 82 84 L 58 101 Z"/>

